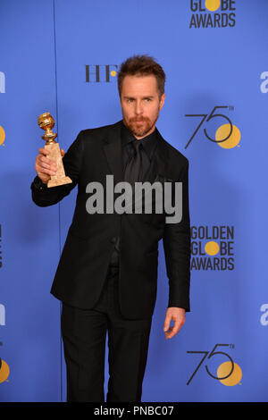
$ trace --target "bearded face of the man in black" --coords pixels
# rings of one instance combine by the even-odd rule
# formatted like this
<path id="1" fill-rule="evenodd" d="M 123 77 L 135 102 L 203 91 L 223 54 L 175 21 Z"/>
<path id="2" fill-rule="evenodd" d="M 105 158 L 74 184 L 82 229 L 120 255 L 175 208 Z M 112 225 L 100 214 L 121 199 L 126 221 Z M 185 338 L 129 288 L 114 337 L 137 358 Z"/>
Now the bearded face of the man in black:
<path id="1" fill-rule="evenodd" d="M 136 139 L 151 134 L 164 103 L 154 75 L 125 76 L 121 87 L 123 122 Z"/>

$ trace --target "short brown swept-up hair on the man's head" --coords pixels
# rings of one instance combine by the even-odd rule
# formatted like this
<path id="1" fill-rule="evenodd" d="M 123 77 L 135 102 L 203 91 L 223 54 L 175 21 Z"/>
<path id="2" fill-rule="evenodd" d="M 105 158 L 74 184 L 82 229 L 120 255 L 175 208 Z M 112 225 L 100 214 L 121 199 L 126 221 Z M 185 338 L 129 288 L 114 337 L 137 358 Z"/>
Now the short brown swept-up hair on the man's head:
<path id="1" fill-rule="evenodd" d="M 117 75 L 117 86 L 121 97 L 121 86 L 125 76 L 148 76 L 154 75 L 157 83 L 159 95 L 164 92 L 165 73 L 160 64 L 155 62 L 149 55 L 132 55 L 125 62 L 121 63 Z"/>

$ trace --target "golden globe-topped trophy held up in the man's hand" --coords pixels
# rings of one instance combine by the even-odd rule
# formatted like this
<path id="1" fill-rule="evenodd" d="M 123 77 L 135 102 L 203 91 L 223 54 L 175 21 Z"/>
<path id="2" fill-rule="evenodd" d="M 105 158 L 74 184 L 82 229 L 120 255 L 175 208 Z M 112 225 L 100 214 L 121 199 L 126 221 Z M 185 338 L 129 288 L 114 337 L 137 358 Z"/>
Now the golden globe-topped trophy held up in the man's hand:
<path id="1" fill-rule="evenodd" d="M 70 184 L 71 178 L 65 176 L 65 171 L 63 167 L 63 158 L 61 155 L 61 150 L 59 143 L 54 141 L 57 137 L 57 133 L 54 133 L 51 129 L 54 127 L 54 118 L 50 113 L 42 113 L 38 116 L 38 126 L 45 130 L 45 135 L 42 136 L 42 139 L 46 140 L 45 148 L 49 151 L 49 159 L 53 159 L 57 165 L 57 170 L 55 175 L 51 175 L 50 180 L 47 182 L 47 187 L 56 187 L 57 185 Z"/>

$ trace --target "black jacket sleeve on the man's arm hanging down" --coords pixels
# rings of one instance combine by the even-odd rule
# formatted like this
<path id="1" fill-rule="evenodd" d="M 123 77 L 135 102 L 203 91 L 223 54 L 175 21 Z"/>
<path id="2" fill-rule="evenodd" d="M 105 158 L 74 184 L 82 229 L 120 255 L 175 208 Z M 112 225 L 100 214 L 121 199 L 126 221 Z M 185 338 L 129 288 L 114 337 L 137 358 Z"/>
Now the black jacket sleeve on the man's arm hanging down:
<path id="1" fill-rule="evenodd" d="M 188 159 L 180 172 L 182 217 L 180 223 L 165 223 L 163 249 L 169 279 L 168 307 L 183 307 L 187 312 L 190 283 L 190 218 L 188 208 Z"/>

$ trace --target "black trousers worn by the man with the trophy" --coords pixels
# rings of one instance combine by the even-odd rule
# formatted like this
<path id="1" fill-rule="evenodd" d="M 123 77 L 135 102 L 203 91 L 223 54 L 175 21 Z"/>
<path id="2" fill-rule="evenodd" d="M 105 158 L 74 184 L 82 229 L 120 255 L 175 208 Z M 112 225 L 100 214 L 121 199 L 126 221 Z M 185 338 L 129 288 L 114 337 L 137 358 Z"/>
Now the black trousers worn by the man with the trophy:
<path id="1" fill-rule="evenodd" d="M 108 332 L 109 381 L 106 402 L 140 401 L 152 318 L 121 315 L 118 270 L 110 267 L 93 309 L 63 303 L 62 336 L 67 370 L 67 401 L 105 401 L 105 340 Z"/>

